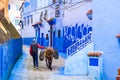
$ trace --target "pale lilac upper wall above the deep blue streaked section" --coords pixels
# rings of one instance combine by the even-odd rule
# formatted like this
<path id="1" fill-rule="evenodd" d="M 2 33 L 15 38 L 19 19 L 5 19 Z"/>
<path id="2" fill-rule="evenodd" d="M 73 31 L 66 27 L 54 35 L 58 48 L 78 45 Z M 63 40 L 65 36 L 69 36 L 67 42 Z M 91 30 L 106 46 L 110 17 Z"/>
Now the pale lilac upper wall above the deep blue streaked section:
<path id="1" fill-rule="evenodd" d="M 91 2 L 83 2 L 64 10 L 63 25 L 74 25 L 77 22 L 92 25 L 92 20 L 86 16 L 87 11 L 91 8 Z"/>

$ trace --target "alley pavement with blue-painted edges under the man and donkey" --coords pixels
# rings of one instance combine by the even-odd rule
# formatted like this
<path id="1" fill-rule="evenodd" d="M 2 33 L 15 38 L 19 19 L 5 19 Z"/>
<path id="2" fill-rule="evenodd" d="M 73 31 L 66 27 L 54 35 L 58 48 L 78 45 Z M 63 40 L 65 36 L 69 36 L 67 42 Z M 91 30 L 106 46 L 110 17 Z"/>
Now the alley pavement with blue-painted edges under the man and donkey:
<path id="1" fill-rule="evenodd" d="M 17 61 L 9 80 L 93 80 L 88 76 L 65 76 L 60 74 L 64 67 L 65 59 L 53 59 L 52 71 L 46 65 L 45 60 L 39 61 L 39 70 L 33 68 L 32 57 L 29 55 L 29 47 L 23 46 L 23 55 Z"/>

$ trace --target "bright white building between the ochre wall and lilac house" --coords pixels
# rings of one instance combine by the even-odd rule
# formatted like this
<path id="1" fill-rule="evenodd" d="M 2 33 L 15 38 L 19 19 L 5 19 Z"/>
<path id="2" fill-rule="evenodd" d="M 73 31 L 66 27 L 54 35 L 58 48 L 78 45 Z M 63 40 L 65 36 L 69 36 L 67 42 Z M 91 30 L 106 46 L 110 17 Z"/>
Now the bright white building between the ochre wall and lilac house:
<path id="1" fill-rule="evenodd" d="M 8 3 L 9 18 L 12 24 L 15 26 L 16 30 L 19 32 L 19 34 L 21 34 L 21 28 L 19 25 L 19 21 L 20 21 L 19 8 L 22 2 L 23 0 L 9 0 Z"/>

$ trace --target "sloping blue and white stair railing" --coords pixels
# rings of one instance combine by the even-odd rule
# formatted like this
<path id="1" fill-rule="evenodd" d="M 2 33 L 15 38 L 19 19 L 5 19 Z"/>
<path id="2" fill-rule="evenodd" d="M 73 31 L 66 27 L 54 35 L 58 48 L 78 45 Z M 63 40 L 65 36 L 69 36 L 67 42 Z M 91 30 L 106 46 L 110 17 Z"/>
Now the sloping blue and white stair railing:
<path id="1" fill-rule="evenodd" d="M 67 56 L 70 57 L 74 55 L 75 53 L 86 47 L 88 44 L 90 44 L 92 42 L 91 35 L 92 33 L 90 32 L 84 37 L 82 37 L 82 39 L 78 40 L 77 42 L 69 46 L 67 48 Z"/>

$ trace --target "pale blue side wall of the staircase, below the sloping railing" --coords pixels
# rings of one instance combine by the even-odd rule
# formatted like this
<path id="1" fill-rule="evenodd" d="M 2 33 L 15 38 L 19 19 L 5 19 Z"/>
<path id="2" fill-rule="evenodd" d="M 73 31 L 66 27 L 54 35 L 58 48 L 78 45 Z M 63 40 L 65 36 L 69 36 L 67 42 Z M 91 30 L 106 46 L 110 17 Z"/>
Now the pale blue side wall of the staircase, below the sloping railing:
<path id="1" fill-rule="evenodd" d="M 77 52 L 72 57 L 69 57 L 65 61 L 65 71 L 66 75 L 82 75 L 86 76 L 88 74 L 88 52 L 93 51 L 93 43 L 87 45 L 81 51 Z"/>

